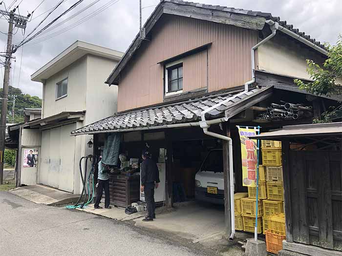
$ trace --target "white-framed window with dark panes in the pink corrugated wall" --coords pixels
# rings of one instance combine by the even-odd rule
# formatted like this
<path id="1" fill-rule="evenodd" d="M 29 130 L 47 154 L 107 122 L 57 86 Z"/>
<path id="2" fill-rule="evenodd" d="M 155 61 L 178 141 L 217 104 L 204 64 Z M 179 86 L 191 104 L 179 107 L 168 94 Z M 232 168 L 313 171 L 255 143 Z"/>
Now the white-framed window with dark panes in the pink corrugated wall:
<path id="1" fill-rule="evenodd" d="M 183 62 L 177 60 L 165 66 L 165 94 L 183 92 Z"/>

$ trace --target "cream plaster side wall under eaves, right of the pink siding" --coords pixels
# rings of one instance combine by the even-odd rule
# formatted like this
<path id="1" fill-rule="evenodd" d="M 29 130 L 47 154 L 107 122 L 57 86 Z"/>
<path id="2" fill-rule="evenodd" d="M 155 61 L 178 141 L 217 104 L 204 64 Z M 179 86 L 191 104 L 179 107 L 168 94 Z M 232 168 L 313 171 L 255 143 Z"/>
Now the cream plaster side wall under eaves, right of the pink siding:
<path id="1" fill-rule="evenodd" d="M 310 79 L 306 71 L 306 59 L 313 59 L 320 64 L 324 61 L 315 50 L 284 37 L 275 37 L 261 45 L 257 56 L 259 70 L 302 79 Z"/>

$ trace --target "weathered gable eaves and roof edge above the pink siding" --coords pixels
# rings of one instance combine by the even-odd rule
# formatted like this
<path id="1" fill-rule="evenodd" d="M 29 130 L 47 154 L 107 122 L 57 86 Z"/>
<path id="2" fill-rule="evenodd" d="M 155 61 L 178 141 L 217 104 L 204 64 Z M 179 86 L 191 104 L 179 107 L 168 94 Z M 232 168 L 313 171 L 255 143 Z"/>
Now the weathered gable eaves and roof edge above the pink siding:
<path id="1" fill-rule="evenodd" d="M 296 33 L 299 37 L 308 40 L 325 50 L 324 45 L 321 44 L 320 41 L 312 39 L 310 35 L 305 35 L 304 32 L 300 32 L 299 29 L 294 28 L 293 25 L 287 24 L 286 20 L 280 20 L 279 17 L 272 16 L 271 13 L 237 9 L 219 5 L 187 2 L 182 0 L 161 0 L 143 27 L 146 35 L 149 34 L 149 32 L 162 16 L 162 14 L 178 15 L 200 20 L 209 20 L 254 30 L 261 30 L 264 27 L 266 20 L 273 20 L 277 21 L 281 26 L 287 28 L 288 30 Z M 140 44 L 143 41 L 144 39 L 141 39 L 139 34 L 135 37 L 135 39 L 132 41 L 127 51 L 125 52 L 123 58 L 119 61 L 119 63 L 116 65 L 114 70 L 107 78 L 106 83 L 108 83 L 109 86 L 111 84 L 118 84 L 118 78 L 121 71 L 125 68 L 129 59 L 134 55 L 135 51 L 140 47 Z"/>

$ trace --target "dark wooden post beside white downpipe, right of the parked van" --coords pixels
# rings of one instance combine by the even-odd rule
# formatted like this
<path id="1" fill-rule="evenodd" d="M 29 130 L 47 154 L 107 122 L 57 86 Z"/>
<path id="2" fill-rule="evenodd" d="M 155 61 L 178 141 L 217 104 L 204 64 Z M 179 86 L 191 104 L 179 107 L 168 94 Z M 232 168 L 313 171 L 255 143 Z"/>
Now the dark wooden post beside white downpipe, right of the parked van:
<path id="1" fill-rule="evenodd" d="M 222 123 L 224 136 L 230 137 L 229 121 Z M 223 178 L 224 178 L 224 223 L 225 231 L 229 237 L 232 233 L 232 219 L 231 219 L 231 200 L 230 200 L 230 178 L 229 178 L 229 149 L 228 141 L 223 140 Z"/>

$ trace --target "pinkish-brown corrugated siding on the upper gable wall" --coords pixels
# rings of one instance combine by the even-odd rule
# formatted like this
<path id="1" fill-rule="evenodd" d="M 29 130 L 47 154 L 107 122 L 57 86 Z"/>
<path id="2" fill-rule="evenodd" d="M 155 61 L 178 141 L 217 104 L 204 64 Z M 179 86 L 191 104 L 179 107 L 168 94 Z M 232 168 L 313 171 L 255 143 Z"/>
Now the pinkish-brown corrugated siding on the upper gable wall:
<path id="1" fill-rule="evenodd" d="M 205 20 L 164 15 L 121 73 L 118 111 L 163 102 L 164 67 L 158 62 L 212 42 L 184 58 L 183 91 L 242 85 L 251 79 L 250 51 L 257 32 Z"/>

